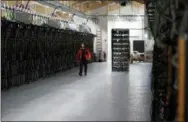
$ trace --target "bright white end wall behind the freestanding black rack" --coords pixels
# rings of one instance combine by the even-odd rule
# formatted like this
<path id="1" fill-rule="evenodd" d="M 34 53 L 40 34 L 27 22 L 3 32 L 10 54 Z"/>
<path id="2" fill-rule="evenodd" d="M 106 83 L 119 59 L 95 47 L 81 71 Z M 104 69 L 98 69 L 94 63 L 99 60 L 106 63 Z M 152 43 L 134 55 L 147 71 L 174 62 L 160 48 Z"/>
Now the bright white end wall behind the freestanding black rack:
<path id="1" fill-rule="evenodd" d="M 134 8 L 131 5 L 127 5 L 126 7 L 121 7 L 119 10 L 112 11 L 109 13 L 117 14 L 117 15 L 144 15 L 144 6 L 139 8 Z M 144 17 L 137 17 L 134 21 L 129 21 L 125 17 L 117 17 L 113 19 L 108 19 L 108 61 L 111 62 L 111 30 L 114 28 L 121 29 L 130 29 L 130 52 L 133 51 L 133 40 L 144 40 Z M 141 29 L 141 30 L 138 30 Z M 135 37 L 131 37 L 135 36 Z"/>

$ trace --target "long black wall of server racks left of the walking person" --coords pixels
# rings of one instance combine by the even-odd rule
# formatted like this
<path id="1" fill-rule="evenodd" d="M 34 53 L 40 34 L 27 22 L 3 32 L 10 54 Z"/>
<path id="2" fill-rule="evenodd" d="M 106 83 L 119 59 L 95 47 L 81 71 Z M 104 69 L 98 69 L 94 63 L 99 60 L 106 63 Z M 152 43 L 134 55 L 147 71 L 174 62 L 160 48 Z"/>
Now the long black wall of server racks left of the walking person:
<path id="1" fill-rule="evenodd" d="M 94 35 L 1 18 L 2 90 L 34 82 L 75 66 L 83 42 L 92 51 Z"/>

